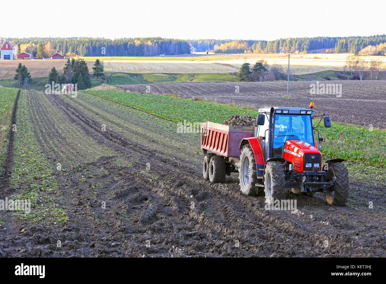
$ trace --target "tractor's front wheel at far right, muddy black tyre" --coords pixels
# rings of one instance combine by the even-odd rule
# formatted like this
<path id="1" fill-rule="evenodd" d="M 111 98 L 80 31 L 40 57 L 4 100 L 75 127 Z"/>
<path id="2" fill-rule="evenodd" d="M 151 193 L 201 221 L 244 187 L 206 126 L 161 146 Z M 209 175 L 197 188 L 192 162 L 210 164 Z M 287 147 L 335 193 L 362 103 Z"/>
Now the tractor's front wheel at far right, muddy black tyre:
<path id="1" fill-rule="evenodd" d="M 344 206 L 349 197 L 349 172 L 342 163 L 330 163 L 327 170 L 327 180 L 335 180 L 335 190 L 327 190 L 326 201 L 329 205 Z"/>

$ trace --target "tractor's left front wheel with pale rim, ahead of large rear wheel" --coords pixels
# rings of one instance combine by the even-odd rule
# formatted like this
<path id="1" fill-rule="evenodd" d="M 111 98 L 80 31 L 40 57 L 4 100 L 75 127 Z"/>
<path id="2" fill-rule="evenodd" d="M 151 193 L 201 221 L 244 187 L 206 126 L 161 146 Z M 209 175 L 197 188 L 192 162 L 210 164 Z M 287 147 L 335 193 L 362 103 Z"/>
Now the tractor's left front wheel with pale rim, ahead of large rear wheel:
<path id="1" fill-rule="evenodd" d="M 283 163 L 268 162 L 264 174 L 264 192 L 267 204 L 274 204 L 276 199 L 284 199 L 285 184 Z"/>

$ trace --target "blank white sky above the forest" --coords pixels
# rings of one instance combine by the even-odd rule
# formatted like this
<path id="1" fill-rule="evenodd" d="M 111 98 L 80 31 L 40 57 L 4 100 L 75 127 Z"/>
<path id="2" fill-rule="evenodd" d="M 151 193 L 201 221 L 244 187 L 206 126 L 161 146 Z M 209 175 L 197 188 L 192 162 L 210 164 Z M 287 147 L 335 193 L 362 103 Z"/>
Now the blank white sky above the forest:
<path id="1" fill-rule="evenodd" d="M 386 1 L 367 3 L 355 0 L 2 0 L 0 36 L 272 40 L 386 33 Z M 19 9 L 19 5 L 24 7 Z M 5 12 L 7 10 L 12 12 Z"/>

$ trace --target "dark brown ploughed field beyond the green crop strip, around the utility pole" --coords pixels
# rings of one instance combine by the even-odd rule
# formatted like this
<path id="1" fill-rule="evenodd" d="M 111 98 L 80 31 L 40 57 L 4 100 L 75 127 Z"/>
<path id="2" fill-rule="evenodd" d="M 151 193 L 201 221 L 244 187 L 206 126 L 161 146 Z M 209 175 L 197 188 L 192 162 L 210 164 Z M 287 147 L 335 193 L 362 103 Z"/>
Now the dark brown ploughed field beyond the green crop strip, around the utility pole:
<path id="1" fill-rule="evenodd" d="M 312 84 L 316 90 L 315 81 L 290 82 L 289 98 L 286 97 L 287 82 L 163 83 L 119 87 L 130 92 L 146 92 L 150 86 L 153 94 L 177 94 L 185 98 L 198 96 L 213 102 L 256 108 L 308 107 L 310 102 L 315 102 L 317 113 L 330 114 L 333 121 L 386 128 L 386 81 L 323 81 L 319 82 L 319 90 L 322 84 L 338 84 L 335 85 L 335 94 L 321 94 L 320 91 L 311 95 Z M 339 95 L 341 97 L 337 97 Z"/>

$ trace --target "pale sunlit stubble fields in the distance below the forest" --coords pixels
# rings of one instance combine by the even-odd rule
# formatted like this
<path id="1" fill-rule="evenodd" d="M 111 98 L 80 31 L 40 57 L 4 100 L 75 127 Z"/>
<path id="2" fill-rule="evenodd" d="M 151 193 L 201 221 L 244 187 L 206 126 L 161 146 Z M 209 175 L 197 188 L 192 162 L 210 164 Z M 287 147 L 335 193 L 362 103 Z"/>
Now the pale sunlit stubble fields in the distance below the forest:
<path id="1" fill-rule="evenodd" d="M 343 70 L 347 56 L 352 54 L 291 54 L 290 70 L 294 75 L 304 75 L 326 70 Z M 150 60 L 105 60 L 106 72 L 120 73 L 234 73 L 247 62 L 253 65 L 264 59 L 268 64 L 279 64 L 284 69 L 288 66 L 287 54 L 181 54 Z M 170 60 L 170 58 L 178 60 Z M 186 58 L 186 60 L 181 60 Z M 195 60 L 192 60 L 192 59 Z M 203 58 L 203 60 L 199 60 Z M 366 61 L 380 59 L 386 62 L 386 56 L 361 56 Z M 86 59 L 86 58 L 85 58 Z M 100 58 L 103 60 L 103 58 Z M 52 67 L 62 70 L 65 60 L 2 60 L 0 61 L 0 79 L 11 79 L 19 63 L 27 66 L 32 77 L 46 77 Z M 94 61 L 86 60 L 90 72 Z"/>

